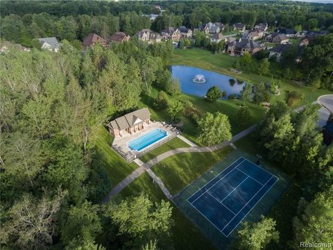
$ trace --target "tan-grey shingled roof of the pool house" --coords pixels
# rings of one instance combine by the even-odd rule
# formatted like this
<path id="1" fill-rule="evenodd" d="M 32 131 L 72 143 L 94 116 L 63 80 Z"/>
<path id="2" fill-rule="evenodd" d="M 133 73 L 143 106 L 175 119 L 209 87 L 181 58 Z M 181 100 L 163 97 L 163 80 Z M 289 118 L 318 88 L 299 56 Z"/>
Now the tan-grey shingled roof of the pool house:
<path id="1" fill-rule="evenodd" d="M 146 119 L 150 119 L 150 117 L 151 113 L 149 112 L 148 108 L 142 108 L 114 119 L 113 121 L 109 122 L 108 126 L 114 129 L 123 130 L 126 128 L 131 128 L 138 118 L 144 121 Z"/>

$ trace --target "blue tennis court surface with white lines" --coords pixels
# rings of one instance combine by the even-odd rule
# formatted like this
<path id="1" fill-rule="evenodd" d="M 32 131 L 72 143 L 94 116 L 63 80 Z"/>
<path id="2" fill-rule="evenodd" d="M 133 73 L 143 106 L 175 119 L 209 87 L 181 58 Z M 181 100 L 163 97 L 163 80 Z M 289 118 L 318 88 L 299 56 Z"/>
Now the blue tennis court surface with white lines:
<path id="1" fill-rule="evenodd" d="M 228 237 L 278 177 L 241 157 L 187 201 Z"/>

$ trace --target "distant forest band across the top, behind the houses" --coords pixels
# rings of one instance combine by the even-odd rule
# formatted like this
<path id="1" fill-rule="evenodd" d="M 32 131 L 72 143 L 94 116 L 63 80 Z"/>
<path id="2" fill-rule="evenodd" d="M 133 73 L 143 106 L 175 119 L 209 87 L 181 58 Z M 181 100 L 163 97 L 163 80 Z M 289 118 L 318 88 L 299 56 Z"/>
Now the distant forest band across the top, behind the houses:
<path id="1" fill-rule="evenodd" d="M 151 22 L 142 14 L 163 15 Z M 262 8 L 265 4 L 265 8 Z M 142 28 L 160 32 L 168 26 L 191 28 L 207 22 L 231 24 L 242 22 L 252 28 L 258 22 L 271 27 L 333 30 L 331 5 L 267 2 L 44 2 L 5 1 L 1 3 L 1 38 L 31 47 L 33 38 L 56 36 L 70 42 L 82 40 L 88 33 L 107 38 L 116 31 L 134 35 Z M 204 44 L 203 44 L 204 45 Z M 205 46 L 202 46 L 205 47 Z M 214 49 L 214 51 L 219 49 Z"/>

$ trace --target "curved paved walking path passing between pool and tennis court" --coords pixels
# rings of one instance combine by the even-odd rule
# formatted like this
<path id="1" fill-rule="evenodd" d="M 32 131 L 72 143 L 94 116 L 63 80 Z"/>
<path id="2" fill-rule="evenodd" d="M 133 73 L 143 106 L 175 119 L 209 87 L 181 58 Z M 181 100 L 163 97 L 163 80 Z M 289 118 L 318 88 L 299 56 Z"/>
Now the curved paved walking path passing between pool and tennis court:
<path id="1" fill-rule="evenodd" d="M 241 131 L 237 135 L 234 135 L 230 142 L 235 142 L 244 136 L 248 135 L 249 133 L 252 133 L 255 131 L 255 126 L 250 126 L 249 128 L 246 128 L 246 130 Z M 179 148 L 179 149 L 173 149 L 170 151 L 167 151 L 165 153 L 160 154 L 159 156 L 156 156 L 155 158 L 148 161 L 148 163 L 144 163 L 144 165 L 141 165 L 135 171 L 133 171 L 130 175 L 128 175 L 126 178 L 123 179 L 120 183 L 118 183 L 109 193 L 108 195 L 103 199 L 103 203 L 110 201 L 111 197 L 118 194 L 123 190 L 123 188 L 126 188 L 130 183 L 132 183 L 137 177 L 139 177 L 141 174 L 143 174 L 147 169 L 150 169 L 155 165 L 156 163 L 159 163 L 160 161 L 164 160 L 165 158 L 168 158 L 169 156 L 173 156 L 178 153 L 196 153 L 196 152 L 212 152 L 216 151 L 218 149 L 223 149 L 224 147 L 227 147 L 230 142 L 223 142 L 221 144 L 217 144 L 211 147 L 187 147 L 187 148 Z M 161 181 L 162 182 L 162 181 Z M 158 183 L 157 183 L 158 184 Z"/>

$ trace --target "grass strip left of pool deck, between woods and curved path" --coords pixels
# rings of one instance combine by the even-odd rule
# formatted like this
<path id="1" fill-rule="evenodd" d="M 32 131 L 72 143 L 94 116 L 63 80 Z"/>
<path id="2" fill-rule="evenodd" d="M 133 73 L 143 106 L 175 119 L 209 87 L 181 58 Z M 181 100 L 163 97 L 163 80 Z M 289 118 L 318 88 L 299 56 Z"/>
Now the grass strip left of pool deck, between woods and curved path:
<path id="1" fill-rule="evenodd" d="M 121 156 L 112 148 L 112 136 L 103 126 L 94 126 L 92 128 L 92 140 L 97 151 L 96 163 L 104 167 L 108 172 L 111 181 L 111 188 L 114 188 L 123 178 L 137 168 L 135 163 L 126 163 Z"/>

